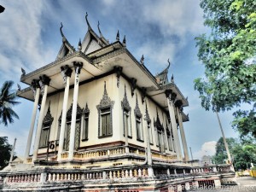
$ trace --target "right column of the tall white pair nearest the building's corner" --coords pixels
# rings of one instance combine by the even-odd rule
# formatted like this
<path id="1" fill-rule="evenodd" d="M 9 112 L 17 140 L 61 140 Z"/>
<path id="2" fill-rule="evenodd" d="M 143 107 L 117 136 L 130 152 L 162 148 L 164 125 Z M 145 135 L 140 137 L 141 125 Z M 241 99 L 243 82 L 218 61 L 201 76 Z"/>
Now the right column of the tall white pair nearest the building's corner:
<path id="1" fill-rule="evenodd" d="M 72 108 L 72 118 L 71 118 L 71 127 L 70 127 L 70 139 L 69 139 L 69 151 L 68 151 L 68 160 L 73 160 L 73 149 L 74 149 L 74 139 L 76 131 L 76 121 L 77 121 L 77 105 L 78 105 L 78 96 L 79 96 L 79 74 L 83 63 L 74 62 L 73 66 L 75 67 L 75 81 L 73 88 L 73 108 Z"/>

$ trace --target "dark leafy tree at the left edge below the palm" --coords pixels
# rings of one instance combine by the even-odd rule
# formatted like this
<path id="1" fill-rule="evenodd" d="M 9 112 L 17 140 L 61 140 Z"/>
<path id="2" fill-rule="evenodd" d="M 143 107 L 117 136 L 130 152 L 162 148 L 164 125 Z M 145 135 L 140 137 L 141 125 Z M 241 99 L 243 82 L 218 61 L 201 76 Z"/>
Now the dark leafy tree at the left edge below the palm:
<path id="1" fill-rule="evenodd" d="M 7 137 L 0 137 L 0 170 L 8 165 L 12 146 L 8 143 Z"/>

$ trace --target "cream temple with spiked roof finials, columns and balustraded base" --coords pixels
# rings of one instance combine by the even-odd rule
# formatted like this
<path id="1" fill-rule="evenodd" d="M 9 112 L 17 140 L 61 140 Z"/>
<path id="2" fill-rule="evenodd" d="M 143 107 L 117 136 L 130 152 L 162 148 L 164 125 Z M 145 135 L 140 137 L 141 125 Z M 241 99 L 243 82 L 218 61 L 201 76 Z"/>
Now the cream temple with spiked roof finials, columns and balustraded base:
<path id="1" fill-rule="evenodd" d="M 189 102 L 173 76 L 168 80 L 170 62 L 154 76 L 144 57 L 137 61 L 126 48 L 125 37 L 120 42 L 119 32 L 110 44 L 99 24 L 97 34 L 87 14 L 85 20 L 88 30 L 77 49 L 61 24 L 55 61 L 21 75 L 28 87 L 17 94 L 34 103 L 26 158 L 0 172 L 3 191 L 183 191 L 202 181 L 219 185 L 218 175 L 191 177 L 230 167 L 201 168 L 189 160 L 183 128 Z"/>

